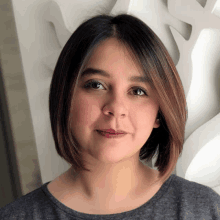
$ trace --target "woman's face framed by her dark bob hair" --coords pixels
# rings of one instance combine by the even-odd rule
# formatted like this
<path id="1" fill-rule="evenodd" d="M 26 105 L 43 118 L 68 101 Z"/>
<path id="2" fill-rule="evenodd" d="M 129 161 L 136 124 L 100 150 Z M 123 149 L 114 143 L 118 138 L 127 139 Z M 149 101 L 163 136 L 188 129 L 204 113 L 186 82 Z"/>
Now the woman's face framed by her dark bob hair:
<path id="1" fill-rule="evenodd" d="M 139 160 L 140 149 L 153 128 L 159 127 L 156 122 L 159 104 L 153 91 L 147 82 L 130 81 L 130 77 L 143 76 L 141 68 L 112 38 L 94 50 L 87 68 L 102 70 L 109 77 L 81 76 L 72 99 L 72 131 L 83 148 L 83 156 L 99 165 L 131 158 Z M 95 82 L 88 84 L 91 80 Z M 112 139 L 97 132 L 109 128 L 127 134 Z"/>

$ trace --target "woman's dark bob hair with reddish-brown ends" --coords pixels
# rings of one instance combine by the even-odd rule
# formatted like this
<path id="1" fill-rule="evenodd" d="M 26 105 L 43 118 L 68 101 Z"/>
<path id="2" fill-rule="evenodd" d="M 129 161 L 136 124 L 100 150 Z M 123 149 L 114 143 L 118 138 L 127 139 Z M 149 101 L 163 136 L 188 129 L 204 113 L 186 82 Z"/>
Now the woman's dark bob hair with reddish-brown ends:
<path id="1" fill-rule="evenodd" d="M 74 172 L 84 170 L 80 144 L 71 131 L 71 103 L 76 85 L 92 52 L 101 42 L 115 38 L 133 52 L 158 102 L 160 127 L 153 129 L 139 153 L 139 160 L 150 161 L 163 183 L 175 169 L 182 153 L 188 108 L 181 79 L 158 36 L 133 15 L 99 14 L 84 20 L 65 44 L 50 85 L 49 111 L 57 153 L 70 163 Z M 157 181 L 156 181 L 157 182 Z"/>

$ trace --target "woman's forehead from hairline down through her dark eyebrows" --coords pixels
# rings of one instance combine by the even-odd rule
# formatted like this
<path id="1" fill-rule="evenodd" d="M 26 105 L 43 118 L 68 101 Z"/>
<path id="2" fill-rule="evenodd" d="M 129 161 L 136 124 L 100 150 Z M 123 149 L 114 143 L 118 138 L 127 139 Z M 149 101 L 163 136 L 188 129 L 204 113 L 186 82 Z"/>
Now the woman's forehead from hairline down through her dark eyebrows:
<path id="1" fill-rule="evenodd" d="M 115 75 L 115 73 L 118 74 Z M 119 74 L 120 78 L 123 77 L 130 82 L 140 82 L 148 86 L 151 82 L 149 76 L 144 74 L 141 65 L 136 61 L 131 49 L 117 39 L 108 39 L 94 49 L 80 74 L 80 79 L 91 75 L 117 79 Z"/>

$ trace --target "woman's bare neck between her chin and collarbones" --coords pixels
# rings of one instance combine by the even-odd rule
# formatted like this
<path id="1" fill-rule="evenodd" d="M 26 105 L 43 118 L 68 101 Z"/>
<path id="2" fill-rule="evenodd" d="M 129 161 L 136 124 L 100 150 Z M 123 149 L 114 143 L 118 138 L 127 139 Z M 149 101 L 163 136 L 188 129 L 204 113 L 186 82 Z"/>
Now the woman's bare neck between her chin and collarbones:
<path id="1" fill-rule="evenodd" d="M 152 169 L 139 160 L 99 165 L 89 169 L 91 172 L 78 173 L 73 181 L 89 201 L 113 203 L 132 199 L 146 190 L 153 179 Z"/>

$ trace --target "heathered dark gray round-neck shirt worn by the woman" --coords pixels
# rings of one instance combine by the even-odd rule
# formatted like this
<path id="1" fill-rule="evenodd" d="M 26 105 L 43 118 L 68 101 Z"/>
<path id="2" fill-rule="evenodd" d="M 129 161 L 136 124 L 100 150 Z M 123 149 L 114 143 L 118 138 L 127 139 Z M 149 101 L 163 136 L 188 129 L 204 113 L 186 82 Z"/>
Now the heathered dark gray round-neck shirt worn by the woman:
<path id="1" fill-rule="evenodd" d="M 172 174 L 159 191 L 136 209 L 108 215 L 75 211 L 59 202 L 47 189 L 40 188 L 0 209 L 1 220 L 89 219 L 89 220 L 220 220 L 220 195 L 211 188 Z"/>

